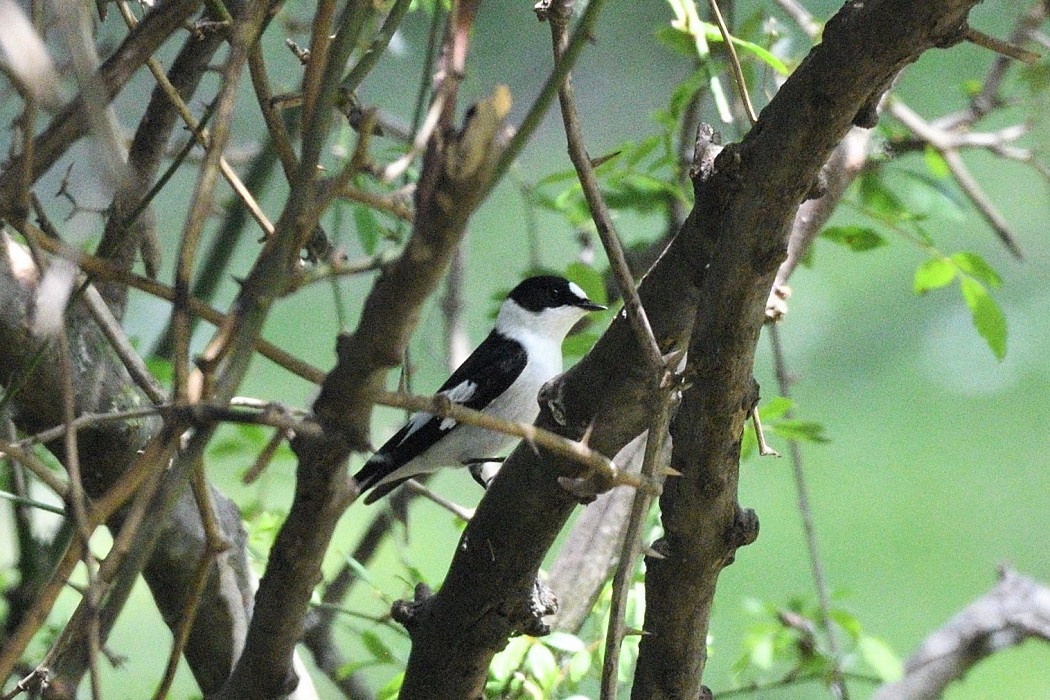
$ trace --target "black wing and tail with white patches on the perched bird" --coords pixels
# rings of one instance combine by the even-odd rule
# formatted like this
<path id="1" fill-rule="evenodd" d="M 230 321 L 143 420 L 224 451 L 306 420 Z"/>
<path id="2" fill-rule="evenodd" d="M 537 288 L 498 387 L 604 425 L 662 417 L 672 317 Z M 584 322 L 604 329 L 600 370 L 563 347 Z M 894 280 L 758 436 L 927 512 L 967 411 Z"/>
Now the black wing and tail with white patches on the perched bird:
<path id="1" fill-rule="evenodd" d="M 528 355 L 522 344 L 492 331 L 441 385 L 438 393 L 455 393 L 457 387 L 470 382 L 475 385 L 474 393 L 465 401 L 457 403 L 475 410 L 482 410 L 518 379 L 526 364 Z M 416 427 L 416 425 L 414 421 L 408 421 L 376 450 L 360 471 L 354 474 L 362 491 L 416 459 L 430 445 L 456 429 L 455 423 L 448 425 L 445 419 L 438 416 L 430 417 L 421 426 Z M 383 485 L 372 493 L 365 503 L 379 499 L 398 484 L 400 482 Z M 387 486 L 390 488 L 386 488 Z"/>

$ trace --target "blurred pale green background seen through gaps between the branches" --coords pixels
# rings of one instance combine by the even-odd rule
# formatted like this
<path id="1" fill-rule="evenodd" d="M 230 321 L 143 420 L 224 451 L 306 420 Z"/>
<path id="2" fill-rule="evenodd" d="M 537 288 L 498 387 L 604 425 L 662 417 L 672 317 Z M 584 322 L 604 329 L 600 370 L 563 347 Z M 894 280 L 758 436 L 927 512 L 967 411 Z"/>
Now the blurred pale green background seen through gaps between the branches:
<path id="1" fill-rule="evenodd" d="M 992 36 L 1006 37 L 1014 13 L 1005 10 L 1022 4 L 980 4 L 972 13 L 972 24 Z M 299 5 L 289 3 L 287 17 L 309 12 L 309 3 Z M 805 5 L 818 19 L 826 20 L 838 3 Z M 770 17 L 775 21 L 769 21 Z M 666 0 L 611 3 L 604 12 L 593 42 L 574 71 L 592 156 L 659 132 L 653 113 L 666 108 L 674 88 L 692 72 L 688 60 L 655 39 L 657 29 L 672 18 Z M 427 13 L 411 13 L 392 50 L 358 94 L 363 105 L 379 107 L 385 119 L 405 127 L 420 81 L 428 26 Z M 806 40 L 775 3 L 736 2 L 734 26 L 752 27 L 747 38 L 776 47 L 784 56 L 804 55 Z M 778 34 L 769 34 L 771 29 Z M 121 36 L 112 16 L 103 30 Z M 282 46 L 282 39 L 281 31 L 267 35 L 272 44 L 274 88 L 294 91 L 298 62 Z M 487 96 L 497 84 L 506 84 L 514 98 L 511 123 L 519 122 L 551 66 L 549 30 L 537 22 L 531 2 L 483 4 L 471 51 L 461 104 Z M 988 50 L 968 44 L 929 51 L 905 71 L 897 94 L 925 118 L 940 116 L 967 104 L 967 81 L 980 81 L 992 60 Z M 1041 66 L 1046 76 L 1046 58 Z M 138 115 L 152 89 L 151 79 L 142 72 L 118 100 L 119 115 L 122 105 L 128 114 Z M 1028 97 L 1016 75 L 1008 81 L 1006 91 L 1016 96 L 1018 104 L 996 112 L 980 128 L 992 130 L 1030 122 L 1032 130 L 1022 143 L 1042 147 L 1046 163 L 1050 92 Z M 254 99 L 247 91 L 244 97 L 235 122 L 234 147 L 250 152 L 260 146 L 261 122 Z M 754 98 L 759 107 L 768 101 L 760 92 Z M 3 108 L 3 115 L 9 116 L 12 109 Z M 717 122 L 710 105 L 701 116 L 720 130 L 726 141 L 740 136 L 737 127 Z M 125 128 L 134 126 L 131 116 L 121 119 Z M 892 123 L 889 119 L 883 122 Z M 887 132 L 880 131 L 875 142 L 886 137 Z M 345 143 L 352 143 L 349 135 Z M 393 141 L 386 143 L 388 153 L 399 148 Z M 856 253 L 818 240 L 811 266 L 792 280 L 795 293 L 780 327 L 788 364 L 797 379 L 793 386 L 796 412 L 821 424 L 828 439 L 825 444 L 804 444 L 803 459 L 835 604 L 848 611 L 865 634 L 884 640 L 901 658 L 991 588 L 996 567 L 1008 565 L 1050 582 L 1050 315 L 1044 306 L 1050 283 L 1050 188 L 1046 179 L 1018 163 L 984 151 L 968 152 L 964 157 L 1013 228 L 1025 254 L 1023 260 L 1004 249 L 950 181 L 944 181 L 940 191 L 916 187 L 916 174 L 930 177 L 921 153 L 888 156 L 881 165 L 883 182 L 911 210 L 926 217 L 923 227 L 938 249 L 949 254 L 975 252 L 1002 276 L 1002 287 L 993 291 L 1008 323 L 1008 349 L 1002 362 L 974 330 L 958 287 L 923 296 L 912 292 L 915 271 L 926 261 L 927 253 L 894 231 L 875 226 L 857 206 L 841 207 L 832 225 L 875 226 L 888 245 Z M 99 192 L 98 201 L 104 203 L 101 190 L 92 185 L 90 146 L 82 144 L 68 163 L 72 164 L 70 177 L 81 204 L 89 206 L 92 191 Z M 465 321 L 471 344 L 487 333 L 495 298 L 534 263 L 564 271 L 579 259 L 576 228 L 556 212 L 529 206 L 523 196 L 524 186 L 568 168 L 555 106 L 514 171 L 471 220 L 464 252 Z M 40 191 L 56 191 L 64 171 L 64 166 L 55 168 Z M 158 203 L 159 212 L 171 212 L 170 221 L 161 229 L 162 235 L 168 234 L 163 241 L 169 249 L 166 272 L 162 273 L 168 279 L 185 216 L 186 193 L 195 174 L 193 169 L 183 168 L 175 177 L 174 187 L 164 190 Z M 264 209 L 271 214 L 278 211 L 285 194 L 282 186 L 276 184 L 267 189 L 259 197 Z M 847 199 L 856 203 L 858 196 L 852 193 Z M 55 200 L 48 206 L 62 211 L 63 204 Z M 665 234 L 666 221 L 659 213 L 623 210 L 617 212 L 616 222 L 628 245 L 645 243 Z M 349 213 L 323 224 L 352 259 L 365 254 Z M 89 242 L 98 240 L 101 228 L 98 214 L 82 211 L 72 216 L 65 231 L 75 240 Z M 234 253 L 238 262 L 232 270 L 245 271 L 255 253 L 253 237 L 247 236 Z M 607 267 L 601 253 L 594 267 L 598 271 Z M 335 285 L 315 284 L 278 302 L 265 336 L 315 366 L 330 368 L 335 335 L 354 327 L 371 281 L 372 275 L 362 275 Z M 213 305 L 225 307 L 234 293 L 235 284 L 229 278 Z M 345 313 L 342 325 L 338 306 Z M 126 325 L 140 347 L 152 345 L 168 313 L 164 302 L 132 296 Z M 195 337 L 197 346 L 209 336 L 210 328 L 202 327 Z M 445 347 L 441 313 L 435 303 L 413 342 L 415 391 L 433 391 L 444 379 Z M 763 399 L 774 397 L 776 382 L 766 338 L 759 347 L 755 374 Z M 392 376 L 391 385 L 396 381 Z M 255 360 L 243 387 L 246 396 L 292 406 L 309 406 L 314 393 L 315 387 L 261 358 Z M 374 443 L 380 444 L 393 433 L 403 418 L 393 409 L 377 409 Z M 286 449 L 257 485 L 240 485 L 239 476 L 251 464 L 246 455 L 258 449 L 267 437 L 244 428 L 224 428 L 208 466 L 209 476 L 242 504 L 252 535 L 259 543 L 257 551 L 264 556 L 265 543 L 290 502 L 294 479 L 294 461 Z M 779 438 L 774 436 L 772 442 L 774 448 L 786 452 L 786 444 Z M 481 495 L 462 471 L 443 473 L 430 484 L 467 506 Z M 740 503 L 757 511 L 761 535 L 738 553 L 736 564 L 719 581 L 711 625 L 712 654 L 705 677 L 716 697 L 719 691 L 754 679 L 734 669 L 749 649 L 746 642 L 753 625 L 763 621 L 754 614 L 753 601 L 785 607 L 793 598 L 814 599 L 796 497 L 786 459 L 750 457 L 741 465 Z M 370 515 L 369 507 L 355 504 L 344 516 L 337 545 L 330 553 L 332 571 L 353 549 Z M 446 511 L 417 501 L 407 528 L 397 528 L 396 536 L 370 566 L 369 579 L 357 586 L 348 601 L 345 607 L 354 614 L 345 616 L 340 629 L 350 649 L 358 649 L 362 656 L 372 654 L 361 641 L 361 631 L 370 631 L 394 654 L 391 663 L 368 670 L 374 685 L 403 667 L 407 639 L 356 615 L 384 615 L 392 599 L 411 596 L 418 579 L 439 586 L 460 530 L 461 525 Z M 124 616 L 110 640 L 110 648 L 127 655 L 128 660 L 108 674 L 104 687 L 116 695 L 107 697 L 142 697 L 164 666 L 168 633 L 158 632 L 164 628 L 148 592 L 140 588 L 130 603 L 138 608 Z M 75 598 L 69 594 L 65 610 L 71 610 Z M 318 683 L 324 694 L 334 693 L 324 681 Z M 864 683 L 852 685 L 857 697 L 866 697 L 869 688 Z M 192 697 L 195 692 L 184 670 L 172 697 Z M 826 690 L 814 684 L 751 694 L 776 699 L 827 696 Z M 1050 646 L 1029 642 L 998 654 L 951 686 L 946 697 L 1050 697 Z"/>

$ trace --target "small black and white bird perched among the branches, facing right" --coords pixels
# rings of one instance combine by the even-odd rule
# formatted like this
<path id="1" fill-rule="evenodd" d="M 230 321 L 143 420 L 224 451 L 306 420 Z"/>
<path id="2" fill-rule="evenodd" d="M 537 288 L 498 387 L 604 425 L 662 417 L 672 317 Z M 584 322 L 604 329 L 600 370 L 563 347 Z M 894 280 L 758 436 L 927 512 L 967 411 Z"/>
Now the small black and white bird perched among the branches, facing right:
<path id="1" fill-rule="evenodd" d="M 526 279 L 503 301 L 492 332 L 438 394 L 496 418 L 531 423 L 540 411 L 540 388 L 562 372 L 565 336 L 588 312 L 603 309 L 562 277 Z M 373 489 L 364 503 L 374 503 L 418 474 L 490 461 L 514 440 L 420 411 L 354 479 L 362 493 Z"/>

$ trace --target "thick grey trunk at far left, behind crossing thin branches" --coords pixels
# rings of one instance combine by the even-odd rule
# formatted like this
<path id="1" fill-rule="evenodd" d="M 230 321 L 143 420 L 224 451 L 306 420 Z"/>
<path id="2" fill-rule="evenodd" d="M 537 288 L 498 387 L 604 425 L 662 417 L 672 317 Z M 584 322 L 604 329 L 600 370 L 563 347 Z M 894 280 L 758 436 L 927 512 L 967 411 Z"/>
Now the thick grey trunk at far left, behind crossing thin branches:
<path id="1" fill-rule="evenodd" d="M 0 304 L 0 384 L 12 386 L 24 382 L 14 400 L 15 422 L 21 430 L 35 433 L 63 422 L 62 404 L 56 400 L 62 396 L 61 364 L 57 346 L 46 346 L 46 341 L 29 333 L 33 288 L 25 278 L 13 272 L 8 246 L 14 243 L 8 240 L 0 255 L 0 299 L 4 300 Z M 24 257 L 26 253 L 19 251 L 16 255 Z M 78 415 L 119 411 L 148 404 L 79 303 L 69 314 L 67 328 L 74 386 L 78 389 Z M 38 353 L 43 353 L 40 361 L 37 361 Z M 27 374 L 30 370 L 32 374 Z M 88 494 L 100 495 L 116 484 L 159 430 L 160 420 L 155 419 L 107 423 L 79 430 L 81 470 Z M 61 439 L 49 444 L 48 449 L 60 460 L 64 459 Z M 234 548 L 213 567 L 191 633 L 196 648 L 187 655 L 187 660 L 205 692 L 216 690 L 232 667 L 231 650 L 238 648 L 235 640 L 243 637 L 251 596 L 244 530 L 239 516 L 227 515 L 236 513 L 236 506 L 214 490 L 213 497 L 223 513 L 224 536 Z M 118 515 L 110 525 L 119 529 L 120 522 Z M 144 575 L 161 614 L 173 624 L 182 614 L 193 571 L 204 551 L 204 528 L 192 494 L 185 491 L 178 497 L 173 514 L 166 522 L 153 518 L 143 527 L 158 529 L 159 544 L 149 555 Z M 240 585 L 232 596 L 231 582 Z M 81 670 L 84 667 L 77 659 L 68 663 Z M 69 677 L 65 669 L 61 666 L 57 671 Z M 72 673 L 71 676 L 78 675 Z"/>

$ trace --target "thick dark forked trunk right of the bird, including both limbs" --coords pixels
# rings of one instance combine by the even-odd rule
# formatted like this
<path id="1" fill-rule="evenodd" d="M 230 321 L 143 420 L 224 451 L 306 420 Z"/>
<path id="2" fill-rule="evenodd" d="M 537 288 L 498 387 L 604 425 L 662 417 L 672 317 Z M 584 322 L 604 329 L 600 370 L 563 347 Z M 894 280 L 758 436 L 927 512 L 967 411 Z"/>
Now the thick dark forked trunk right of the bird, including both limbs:
<path id="1" fill-rule="evenodd" d="M 824 44 L 785 83 L 758 125 L 721 153 L 710 177 L 697 182 L 696 208 L 643 281 L 642 301 L 663 349 L 686 342 L 694 319 L 698 324 L 691 344 L 696 388 L 674 436 L 676 461 L 689 473 L 667 488 L 662 505 L 674 528 L 698 527 L 693 509 L 712 499 L 719 506 L 717 522 L 707 524 L 714 529 L 704 533 L 717 543 L 716 551 L 694 556 L 688 533 L 676 530 L 669 537 L 672 558 L 650 589 L 650 606 L 654 598 L 673 599 L 678 610 L 699 606 L 735 546 L 754 535 L 756 524 L 736 506 L 735 469 L 743 417 L 755 399 L 754 346 L 795 211 L 849 127 L 872 126 L 882 92 L 923 50 L 959 41 L 973 4 L 847 3 L 827 24 Z M 644 366 L 630 328 L 617 317 L 594 349 L 547 393 L 538 424 L 576 438 L 592 425 L 591 446 L 615 453 L 649 420 Z M 700 436 L 712 442 L 690 454 Z M 575 470 L 527 446 L 510 455 L 463 533 L 440 592 L 399 608 L 413 639 L 403 698 L 480 697 L 488 662 L 507 637 L 543 631 L 532 604 L 533 584 L 575 505 L 556 476 Z M 687 570 L 677 568 L 682 564 Z M 691 591 L 700 595 L 684 602 L 678 582 L 688 576 L 702 579 Z M 664 627 L 673 613 L 663 617 L 657 622 L 659 615 L 652 616 L 660 629 L 643 639 L 647 651 L 636 697 L 696 697 L 702 648 L 690 649 L 693 656 L 687 658 Z M 701 645 L 706 619 L 690 628 Z M 667 655 L 660 657 L 660 650 Z"/>

